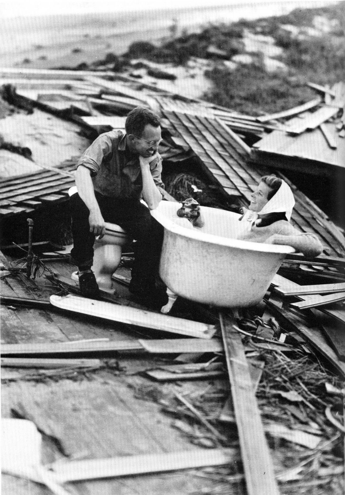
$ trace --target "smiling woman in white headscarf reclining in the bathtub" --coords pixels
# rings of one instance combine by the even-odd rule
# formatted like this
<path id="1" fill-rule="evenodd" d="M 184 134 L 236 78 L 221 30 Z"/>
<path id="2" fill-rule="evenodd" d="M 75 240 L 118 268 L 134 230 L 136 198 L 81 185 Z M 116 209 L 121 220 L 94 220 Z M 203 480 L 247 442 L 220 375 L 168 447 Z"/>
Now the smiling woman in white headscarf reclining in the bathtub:
<path id="1" fill-rule="evenodd" d="M 251 196 L 249 209 L 243 208 L 237 239 L 256 243 L 283 244 L 314 258 L 322 252 L 319 239 L 302 233 L 289 223 L 294 198 L 288 184 L 274 175 L 262 177 Z"/>

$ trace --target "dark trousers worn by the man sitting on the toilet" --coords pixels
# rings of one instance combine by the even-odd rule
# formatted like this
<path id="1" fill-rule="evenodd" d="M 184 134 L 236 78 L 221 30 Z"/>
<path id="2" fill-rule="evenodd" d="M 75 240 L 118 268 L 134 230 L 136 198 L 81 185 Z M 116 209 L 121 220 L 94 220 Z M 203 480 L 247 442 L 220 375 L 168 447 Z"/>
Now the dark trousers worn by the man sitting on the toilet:
<path id="1" fill-rule="evenodd" d="M 163 244 L 163 226 L 155 220 L 149 209 L 139 200 L 109 198 L 95 192 L 105 222 L 115 223 L 135 241 L 131 288 L 136 292 L 147 291 L 154 286 Z M 90 232 L 89 214 L 78 193 L 70 198 L 72 216 L 73 249 L 71 256 L 81 268 L 93 263 L 95 236 Z"/>

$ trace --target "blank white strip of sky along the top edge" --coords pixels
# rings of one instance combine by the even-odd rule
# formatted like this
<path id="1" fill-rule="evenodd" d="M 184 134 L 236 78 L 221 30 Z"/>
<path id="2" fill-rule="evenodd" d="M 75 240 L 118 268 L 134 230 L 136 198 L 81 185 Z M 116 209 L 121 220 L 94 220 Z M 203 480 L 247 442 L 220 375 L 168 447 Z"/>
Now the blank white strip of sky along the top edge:
<path id="1" fill-rule="evenodd" d="M 289 3 L 289 0 L 274 0 L 275 2 Z M 317 3 L 317 0 L 307 0 Z M 157 8 L 182 8 L 197 6 L 216 5 L 255 5 L 257 3 L 268 3 L 267 0 L 0 0 L 1 17 L 16 17 L 30 15 L 49 14 L 81 14 L 88 12 L 115 12 L 128 10 L 146 10 Z M 323 2 L 324 3 L 324 2 Z"/>

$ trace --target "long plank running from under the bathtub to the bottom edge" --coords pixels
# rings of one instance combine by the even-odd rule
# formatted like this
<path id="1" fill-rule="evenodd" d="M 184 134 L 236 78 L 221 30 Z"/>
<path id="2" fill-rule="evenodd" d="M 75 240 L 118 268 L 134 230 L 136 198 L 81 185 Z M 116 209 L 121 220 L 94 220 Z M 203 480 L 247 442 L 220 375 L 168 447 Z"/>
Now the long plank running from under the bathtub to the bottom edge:
<path id="1" fill-rule="evenodd" d="M 233 328 L 234 319 L 220 313 L 220 322 L 248 495 L 278 495 L 241 337 Z"/>

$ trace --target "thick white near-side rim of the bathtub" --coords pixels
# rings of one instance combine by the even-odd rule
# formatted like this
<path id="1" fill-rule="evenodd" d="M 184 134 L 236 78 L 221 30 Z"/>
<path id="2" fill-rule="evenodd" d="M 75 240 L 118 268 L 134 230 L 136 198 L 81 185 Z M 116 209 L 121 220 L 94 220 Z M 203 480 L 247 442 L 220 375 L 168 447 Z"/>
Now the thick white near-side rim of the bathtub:
<path id="1" fill-rule="evenodd" d="M 175 203 L 174 203 L 175 204 Z M 222 210 L 227 211 L 227 210 Z M 181 235 L 183 237 L 189 237 L 199 242 L 217 244 L 218 246 L 234 247 L 237 249 L 246 249 L 249 251 L 261 251 L 272 252 L 281 254 L 291 254 L 296 250 L 291 246 L 285 246 L 282 244 L 264 244 L 254 243 L 250 241 L 241 241 L 239 239 L 230 239 L 214 234 L 206 234 L 204 232 L 198 232 L 197 230 L 187 229 L 173 223 L 162 212 L 159 211 L 159 205 L 154 210 L 150 210 L 151 215 L 161 224 L 163 227 L 174 234 Z M 239 215 L 240 216 L 240 215 Z"/>

